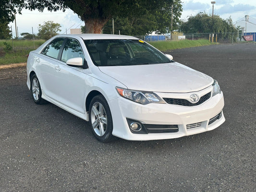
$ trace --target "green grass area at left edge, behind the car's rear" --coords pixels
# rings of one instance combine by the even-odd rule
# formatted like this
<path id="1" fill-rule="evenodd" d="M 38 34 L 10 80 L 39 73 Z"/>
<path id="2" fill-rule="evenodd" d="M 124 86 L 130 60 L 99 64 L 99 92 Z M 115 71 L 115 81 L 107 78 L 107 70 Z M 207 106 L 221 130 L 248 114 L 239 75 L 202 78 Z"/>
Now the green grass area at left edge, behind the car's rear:
<path id="1" fill-rule="evenodd" d="M 33 40 L 13 39 L 13 47 L 9 51 L 4 50 L 6 48 L 4 42 L 12 46 L 12 40 L 0 40 L 0 65 L 26 62 L 27 55 L 29 54 L 29 52 L 37 49 L 40 45 L 42 45 L 45 42 L 45 40 L 35 40 L 34 48 Z"/>

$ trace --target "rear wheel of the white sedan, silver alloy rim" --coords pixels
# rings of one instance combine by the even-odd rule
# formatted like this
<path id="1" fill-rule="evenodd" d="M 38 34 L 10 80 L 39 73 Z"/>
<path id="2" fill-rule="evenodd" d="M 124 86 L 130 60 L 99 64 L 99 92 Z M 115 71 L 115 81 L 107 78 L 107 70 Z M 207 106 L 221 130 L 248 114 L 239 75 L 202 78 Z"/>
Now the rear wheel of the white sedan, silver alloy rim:
<path id="1" fill-rule="evenodd" d="M 32 75 L 32 78 L 30 81 L 30 90 L 31 90 L 32 98 L 37 105 L 42 105 L 47 103 L 47 101 L 42 98 L 41 85 L 38 81 L 36 74 Z"/>

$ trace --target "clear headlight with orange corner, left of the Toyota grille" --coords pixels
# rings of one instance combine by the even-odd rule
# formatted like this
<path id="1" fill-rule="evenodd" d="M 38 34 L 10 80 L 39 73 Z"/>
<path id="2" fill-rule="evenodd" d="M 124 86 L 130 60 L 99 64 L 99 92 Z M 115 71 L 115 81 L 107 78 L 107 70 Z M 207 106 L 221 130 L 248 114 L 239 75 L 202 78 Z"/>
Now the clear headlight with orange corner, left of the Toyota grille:
<path id="1" fill-rule="evenodd" d="M 146 105 L 148 103 L 165 103 L 157 94 L 153 92 L 134 91 L 116 87 L 120 96 Z"/>

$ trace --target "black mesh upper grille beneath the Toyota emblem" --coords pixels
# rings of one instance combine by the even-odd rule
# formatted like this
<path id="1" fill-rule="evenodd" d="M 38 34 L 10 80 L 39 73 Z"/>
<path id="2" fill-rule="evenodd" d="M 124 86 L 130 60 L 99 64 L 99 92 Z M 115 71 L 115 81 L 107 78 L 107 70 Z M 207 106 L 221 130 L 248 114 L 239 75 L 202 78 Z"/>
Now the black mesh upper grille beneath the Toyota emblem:
<path id="1" fill-rule="evenodd" d="M 211 92 L 207 93 L 204 96 L 201 96 L 199 101 L 197 103 L 191 103 L 186 99 L 175 99 L 175 98 L 163 98 L 166 103 L 171 104 L 171 105 L 181 105 L 181 106 L 186 106 L 186 107 L 192 107 L 192 106 L 197 106 L 205 101 L 207 101 L 211 96 Z"/>

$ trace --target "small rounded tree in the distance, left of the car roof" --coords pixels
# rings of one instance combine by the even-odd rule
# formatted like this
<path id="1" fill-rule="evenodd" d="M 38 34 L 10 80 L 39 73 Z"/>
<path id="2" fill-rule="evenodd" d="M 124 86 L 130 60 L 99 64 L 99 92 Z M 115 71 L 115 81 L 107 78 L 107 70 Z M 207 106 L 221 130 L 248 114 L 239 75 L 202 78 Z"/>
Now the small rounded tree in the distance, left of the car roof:
<path id="1" fill-rule="evenodd" d="M 44 22 L 44 24 L 39 24 L 37 36 L 41 39 L 49 39 L 52 36 L 58 35 L 61 31 L 61 24 L 53 23 L 53 21 Z"/>

